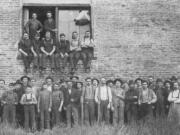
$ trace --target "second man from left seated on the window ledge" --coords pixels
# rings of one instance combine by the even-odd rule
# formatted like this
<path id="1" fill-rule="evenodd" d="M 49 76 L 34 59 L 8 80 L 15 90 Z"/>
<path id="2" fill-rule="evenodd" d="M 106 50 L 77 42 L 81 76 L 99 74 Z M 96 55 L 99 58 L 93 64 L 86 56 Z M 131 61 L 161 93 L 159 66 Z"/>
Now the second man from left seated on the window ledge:
<path id="1" fill-rule="evenodd" d="M 40 50 L 40 47 L 42 45 L 42 42 L 40 40 L 40 34 L 36 33 L 34 39 L 32 40 L 32 46 L 31 51 L 33 53 L 33 68 L 34 70 L 37 70 L 40 68 L 42 70 L 42 67 L 39 67 L 39 59 L 42 57 L 42 52 Z"/>

